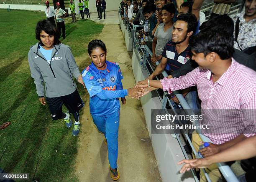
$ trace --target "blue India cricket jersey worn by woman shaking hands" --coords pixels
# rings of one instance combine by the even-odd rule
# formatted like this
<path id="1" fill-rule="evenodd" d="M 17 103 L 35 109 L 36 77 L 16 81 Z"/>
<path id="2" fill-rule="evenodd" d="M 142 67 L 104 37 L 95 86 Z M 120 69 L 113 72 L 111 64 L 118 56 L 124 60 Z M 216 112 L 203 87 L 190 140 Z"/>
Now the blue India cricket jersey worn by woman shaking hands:
<path id="1" fill-rule="evenodd" d="M 118 97 L 125 97 L 122 72 L 118 63 L 106 60 L 106 69 L 98 70 L 92 63 L 82 71 L 84 84 L 90 95 L 90 112 L 92 115 L 111 115 L 120 110 Z"/>

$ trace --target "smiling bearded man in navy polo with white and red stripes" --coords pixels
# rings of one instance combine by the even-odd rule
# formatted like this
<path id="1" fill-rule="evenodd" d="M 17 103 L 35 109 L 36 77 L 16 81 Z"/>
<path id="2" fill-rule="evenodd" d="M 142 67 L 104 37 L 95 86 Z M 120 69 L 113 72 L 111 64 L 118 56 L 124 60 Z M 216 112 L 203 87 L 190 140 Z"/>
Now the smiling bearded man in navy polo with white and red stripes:
<path id="1" fill-rule="evenodd" d="M 166 5 L 164 5 L 164 7 L 165 6 Z M 172 30 L 172 40 L 165 45 L 164 50 L 161 54 L 161 62 L 156 67 L 154 72 L 148 77 L 149 80 L 153 80 L 154 77 L 160 75 L 161 72 L 166 69 L 166 67 L 168 67 L 166 72 L 171 75 L 170 77 L 172 77 L 172 74 L 173 77 L 176 77 L 176 74 L 174 72 L 177 72 L 180 67 L 182 67 L 182 65 L 192 59 L 189 39 L 194 34 L 196 27 L 197 19 L 195 15 L 181 14 L 178 17 L 177 21 L 174 23 L 174 29 Z M 197 112 L 198 106 L 196 89 L 193 88 L 192 90 L 182 90 L 182 94 L 187 100 L 191 109 L 194 112 Z M 174 102 L 179 102 L 177 100 L 177 97 L 175 96 L 172 98 L 172 100 Z"/>

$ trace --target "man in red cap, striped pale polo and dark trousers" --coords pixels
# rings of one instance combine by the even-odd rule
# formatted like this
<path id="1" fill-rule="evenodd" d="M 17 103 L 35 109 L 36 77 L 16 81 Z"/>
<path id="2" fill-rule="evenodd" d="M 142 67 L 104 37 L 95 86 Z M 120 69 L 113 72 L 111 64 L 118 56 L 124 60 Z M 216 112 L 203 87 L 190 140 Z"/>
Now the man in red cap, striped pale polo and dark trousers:
<path id="1" fill-rule="evenodd" d="M 60 8 L 59 2 L 57 2 L 56 5 L 57 5 L 57 8 L 56 8 L 56 10 L 54 10 L 54 15 L 55 15 L 56 22 L 57 22 L 57 29 L 59 30 L 59 38 L 61 36 L 61 30 L 62 30 L 62 38 L 65 39 L 66 31 L 65 31 L 64 17 L 67 17 L 67 12 Z"/>

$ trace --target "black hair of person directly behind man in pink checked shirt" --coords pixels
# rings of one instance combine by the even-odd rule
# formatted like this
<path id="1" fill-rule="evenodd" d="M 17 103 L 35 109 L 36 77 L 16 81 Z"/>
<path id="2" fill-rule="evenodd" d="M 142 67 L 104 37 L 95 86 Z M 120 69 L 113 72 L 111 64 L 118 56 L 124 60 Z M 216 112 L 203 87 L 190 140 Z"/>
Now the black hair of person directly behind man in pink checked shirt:
<path id="1" fill-rule="evenodd" d="M 203 22 L 199 30 L 211 29 L 215 32 L 226 31 L 228 35 L 233 36 L 234 22 L 228 15 L 219 15 L 206 22 Z"/>

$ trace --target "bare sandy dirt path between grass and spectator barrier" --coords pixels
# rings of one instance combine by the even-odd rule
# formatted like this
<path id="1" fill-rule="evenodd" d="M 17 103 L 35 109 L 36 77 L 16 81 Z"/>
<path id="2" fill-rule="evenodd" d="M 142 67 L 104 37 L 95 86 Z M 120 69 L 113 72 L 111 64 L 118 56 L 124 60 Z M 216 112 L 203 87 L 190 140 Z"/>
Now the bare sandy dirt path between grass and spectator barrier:
<path id="1" fill-rule="evenodd" d="M 97 37 L 105 42 L 107 59 L 118 62 L 123 72 L 123 87 L 133 87 L 135 80 L 131 70 L 131 58 L 124 45 L 119 25 L 105 25 Z M 89 97 L 87 98 L 89 101 Z M 141 103 L 126 98 L 121 105 L 118 137 L 119 182 L 159 182 L 161 181 L 151 141 L 146 129 Z M 81 182 L 112 182 L 108 170 L 108 149 L 104 144 L 104 135 L 97 131 L 86 102 L 82 117 L 80 146 L 76 174 Z"/>

